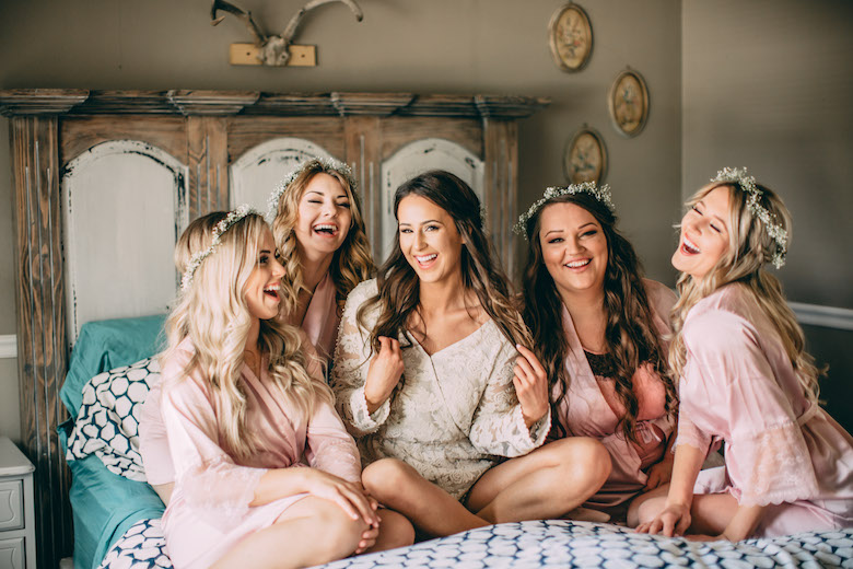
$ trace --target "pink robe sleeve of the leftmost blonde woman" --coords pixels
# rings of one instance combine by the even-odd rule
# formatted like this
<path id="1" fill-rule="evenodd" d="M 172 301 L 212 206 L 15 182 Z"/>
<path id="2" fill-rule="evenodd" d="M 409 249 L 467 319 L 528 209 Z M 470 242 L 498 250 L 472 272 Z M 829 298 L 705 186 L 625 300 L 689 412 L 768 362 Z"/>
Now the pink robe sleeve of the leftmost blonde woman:
<path id="1" fill-rule="evenodd" d="M 180 371 L 185 362 L 168 367 Z M 217 518 L 244 514 L 267 469 L 239 466 L 220 448 L 217 417 L 200 373 L 170 375 L 164 370 L 161 410 L 175 465 L 175 493 Z"/>

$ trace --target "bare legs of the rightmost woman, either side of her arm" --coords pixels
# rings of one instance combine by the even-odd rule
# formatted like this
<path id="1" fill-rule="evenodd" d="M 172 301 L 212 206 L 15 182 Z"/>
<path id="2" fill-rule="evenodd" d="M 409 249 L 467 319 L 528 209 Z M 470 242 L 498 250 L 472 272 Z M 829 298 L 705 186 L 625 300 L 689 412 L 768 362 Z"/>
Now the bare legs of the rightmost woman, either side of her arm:
<path id="1" fill-rule="evenodd" d="M 648 493 L 639 496 L 634 501 L 641 500 L 635 509 L 634 526 L 651 522 L 666 507 L 666 489 L 655 488 Z M 661 492 L 663 490 L 663 492 Z M 654 496 L 653 496 L 654 495 Z M 693 503 L 690 507 L 690 527 L 688 534 L 717 535 L 728 525 L 728 522 L 737 512 L 737 500 L 729 493 L 697 493 L 693 495 Z M 628 513 L 628 523 L 631 525 L 631 511 Z"/>

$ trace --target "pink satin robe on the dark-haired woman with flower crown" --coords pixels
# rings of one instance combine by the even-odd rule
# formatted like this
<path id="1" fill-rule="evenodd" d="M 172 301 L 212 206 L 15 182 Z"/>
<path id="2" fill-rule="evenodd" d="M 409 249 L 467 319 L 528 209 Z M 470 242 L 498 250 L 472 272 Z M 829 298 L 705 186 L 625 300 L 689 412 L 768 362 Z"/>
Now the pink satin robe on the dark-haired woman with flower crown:
<path id="1" fill-rule="evenodd" d="M 646 279 L 643 283 L 652 309 L 654 327 L 661 336 L 668 334 L 668 316 L 676 295 L 659 282 Z M 597 439 L 610 453 L 610 476 L 601 489 L 584 503 L 586 508 L 609 510 L 627 502 L 643 489 L 648 478 L 648 467 L 661 462 L 666 452 L 674 421 L 665 414 L 666 392 L 661 378 L 651 365 L 642 365 L 633 376 L 634 394 L 639 404 L 636 438 L 640 444 L 628 441 L 619 425 L 624 408 L 618 400 L 614 381 L 593 375 L 565 306 L 563 332 L 569 341 L 565 368 L 571 383 L 566 396 L 558 406 L 557 420 L 569 436 Z M 664 349 L 666 348 L 667 345 L 664 344 Z M 560 394 L 560 386 L 556 385 L 553 397 L 557 398 Z M 556 430 L 556 427 L 552 428 L 551 434 L 554 434 Z"/>

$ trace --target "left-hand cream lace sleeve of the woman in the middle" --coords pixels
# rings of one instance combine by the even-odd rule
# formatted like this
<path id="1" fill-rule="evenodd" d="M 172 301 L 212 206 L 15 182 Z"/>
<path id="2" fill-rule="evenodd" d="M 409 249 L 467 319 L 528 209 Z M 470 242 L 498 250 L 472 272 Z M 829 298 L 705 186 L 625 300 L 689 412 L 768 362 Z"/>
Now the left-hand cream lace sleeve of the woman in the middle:
<path id="1" fill-rule="evenodd" d="M 364 383 L 367 381 L 373 350 L 370 346 L 370 333 L 359 325 L 358 312 L 375 293 L 375 281 L 366 281 L 355 287 L 347 299 L 331 370 L 336 407 L 347 429 L 355 437 L 374 432 L 390 414 L 390 402 L 386 400 L 371 415 L 364 398 Z"/>

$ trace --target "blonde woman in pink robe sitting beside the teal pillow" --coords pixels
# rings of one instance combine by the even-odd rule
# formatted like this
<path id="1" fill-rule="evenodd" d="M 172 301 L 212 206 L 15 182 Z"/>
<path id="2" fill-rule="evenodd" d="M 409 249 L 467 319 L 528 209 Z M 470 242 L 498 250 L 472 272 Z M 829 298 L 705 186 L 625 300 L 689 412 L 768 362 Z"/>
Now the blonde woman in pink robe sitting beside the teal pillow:
<path id="1" fill-rule="evenodd" d="M 264 219 L 244 208 L 211 213 L 182 244 L 199 248 L 161 356 L 175 472 L 163 531 L 174 566 L 305 567 L 405 545 L 401 516 L 388 512 L 383 525 L 399 524 L 402 541 L 378 532 L 318 362 L 278 322 L 284 269 Z"/>

